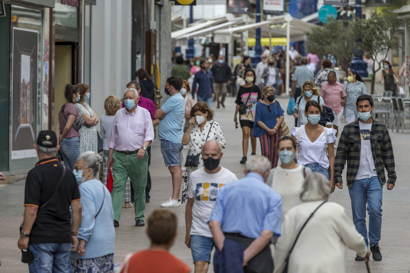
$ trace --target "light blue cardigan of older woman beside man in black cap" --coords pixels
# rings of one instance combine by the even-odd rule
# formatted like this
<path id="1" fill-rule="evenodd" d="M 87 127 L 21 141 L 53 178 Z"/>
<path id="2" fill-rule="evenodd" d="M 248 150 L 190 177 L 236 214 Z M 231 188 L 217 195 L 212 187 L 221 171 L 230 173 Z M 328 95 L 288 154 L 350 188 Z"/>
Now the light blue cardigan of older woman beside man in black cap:
<path id="1" fill-rule="evenodd" d="M 114 225 L 111 224 L 114 223 L 111 194 L 107 187 L 95 178 L 81 183 L 78 188 L 82 213 L 77 238 L 84 239 L 86 243 L 84 256 L 71 252 L 71 258 L 89 259 L 114 253 L 115 231 Z M 96 217 L 98 210 L 100 213 Z"/>

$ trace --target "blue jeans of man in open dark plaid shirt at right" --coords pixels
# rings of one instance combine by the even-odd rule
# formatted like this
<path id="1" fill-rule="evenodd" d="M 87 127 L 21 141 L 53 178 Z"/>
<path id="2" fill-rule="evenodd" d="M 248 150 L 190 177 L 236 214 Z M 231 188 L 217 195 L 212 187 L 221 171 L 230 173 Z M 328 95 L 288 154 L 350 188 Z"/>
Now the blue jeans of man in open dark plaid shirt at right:
<path id="1" fill-rule="evenodd" d="M 382 196 L 383 186 L 377 176 L 355 180 L 352 187 L 349 188 L 350 199 L 352 203 L 353 223 L 356 229 L 366 241 L 366 203 L 367 213 L 369 214 L 369 240 L 370 246 L 379 244 L 382 228 Z"/>

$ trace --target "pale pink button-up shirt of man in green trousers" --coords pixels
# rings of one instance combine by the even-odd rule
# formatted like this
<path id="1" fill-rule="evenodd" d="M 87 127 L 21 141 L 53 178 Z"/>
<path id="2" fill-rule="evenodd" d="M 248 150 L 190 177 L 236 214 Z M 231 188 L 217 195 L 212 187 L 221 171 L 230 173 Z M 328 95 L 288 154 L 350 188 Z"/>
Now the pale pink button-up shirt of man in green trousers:
<path id="1" fill-rule="evenodd" d="M 122 108 L 115 113 L 108 147 L 117 151 L 137 151 L 144 142 L 154 142 L 154 127 L 150 112 L 137 106 L 132 113 Z"/>

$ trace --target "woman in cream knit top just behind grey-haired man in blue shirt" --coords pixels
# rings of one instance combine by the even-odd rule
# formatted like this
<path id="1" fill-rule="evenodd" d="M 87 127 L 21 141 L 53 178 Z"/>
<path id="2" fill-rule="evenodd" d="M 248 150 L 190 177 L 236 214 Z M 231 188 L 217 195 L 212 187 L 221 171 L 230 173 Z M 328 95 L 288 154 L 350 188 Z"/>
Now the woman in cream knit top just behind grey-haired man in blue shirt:
<path id="1" fill-rule="evenodd" d="M 296 142 L 289 135 L 278 141 L 281 165 L 271 169 L 266 184 L 282 196 L 282 219 L 294 206 L 302 203 L 299 198 L 303 180 L 312 173 L 310 168 L 296 164 Z"/>

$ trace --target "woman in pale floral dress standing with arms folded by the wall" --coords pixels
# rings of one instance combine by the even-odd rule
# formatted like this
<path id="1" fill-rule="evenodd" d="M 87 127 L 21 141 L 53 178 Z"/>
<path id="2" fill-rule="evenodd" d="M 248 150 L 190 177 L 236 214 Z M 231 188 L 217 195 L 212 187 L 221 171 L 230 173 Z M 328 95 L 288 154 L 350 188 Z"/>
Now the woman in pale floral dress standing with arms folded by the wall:
<path id="1" fill-rule="evenodd" d="M 93 109 L 84 102 L 84 98 L 90 98 L 89 86 L 85 83 L 77 84 L 80 88 L 80 100 L 75 104 L 78 108 L 78 115 L 84 119 L 87 126 L 82 126 L 80 132 L 80 153 L 85 151 L 98 152 L 97 129 L 98 117 Z"/>

